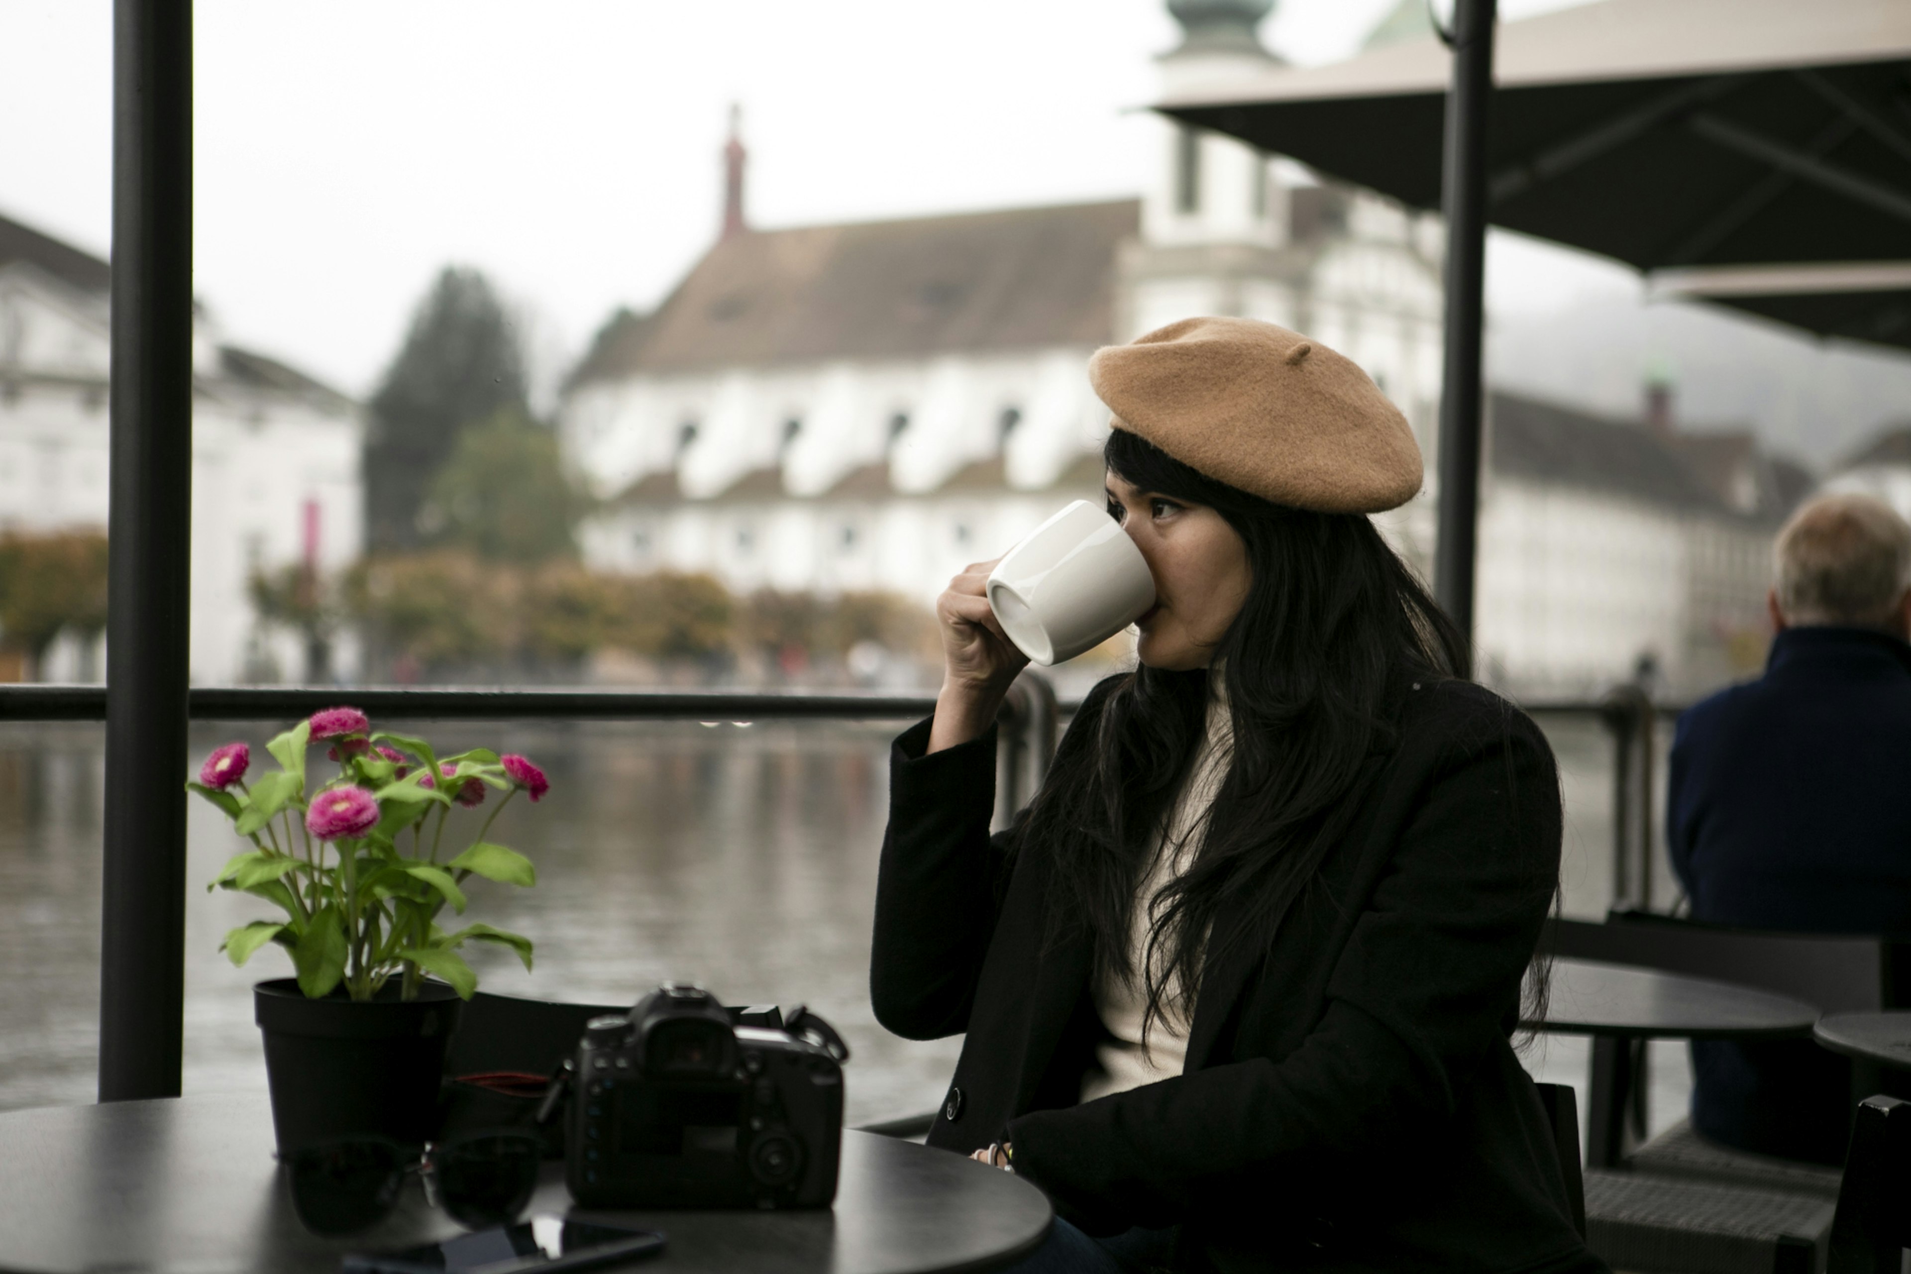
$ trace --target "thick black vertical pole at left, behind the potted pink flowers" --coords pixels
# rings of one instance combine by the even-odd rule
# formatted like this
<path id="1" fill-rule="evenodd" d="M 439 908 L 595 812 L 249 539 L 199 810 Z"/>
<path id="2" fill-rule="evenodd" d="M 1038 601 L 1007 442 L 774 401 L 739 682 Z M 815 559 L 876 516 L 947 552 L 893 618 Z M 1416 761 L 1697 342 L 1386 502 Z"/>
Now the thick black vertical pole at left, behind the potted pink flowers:
<path id="1" fill-rule="evenodd" d="M 193 6 L 113 8 L 99 1100 L 180 1094 L 193 479 Z"/>

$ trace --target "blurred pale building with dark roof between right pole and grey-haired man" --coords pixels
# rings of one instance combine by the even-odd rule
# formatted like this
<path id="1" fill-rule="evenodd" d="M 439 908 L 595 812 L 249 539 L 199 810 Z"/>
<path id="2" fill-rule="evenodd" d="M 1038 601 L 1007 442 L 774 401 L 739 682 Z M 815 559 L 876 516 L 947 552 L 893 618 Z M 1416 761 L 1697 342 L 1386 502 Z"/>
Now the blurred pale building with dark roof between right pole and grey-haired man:
<path id="1" fill-rule="evenodd" d="M 1674 428 L 1670 392 L 1615 420 L 1487 401 L 1481 676 L 1527 695 L 1640 676 L 1686 697 L 1756 672 L 1773 535 L 1812 476 L 1741 430 Z"/>

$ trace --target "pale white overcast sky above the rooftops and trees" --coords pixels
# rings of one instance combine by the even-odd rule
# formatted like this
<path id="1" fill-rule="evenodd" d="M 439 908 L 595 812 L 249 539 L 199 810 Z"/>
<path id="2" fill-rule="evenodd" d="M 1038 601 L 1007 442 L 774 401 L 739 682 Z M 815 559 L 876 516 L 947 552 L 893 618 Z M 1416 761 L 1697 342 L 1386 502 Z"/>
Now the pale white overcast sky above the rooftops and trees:
<path id="1" fill-rule="evenodd" d="M 1391 4 L 1280 0 L 1263 36 L 1332 61 Z M 472 264 L 548 378 L 711 241 L 728 103 L 759 225 L 1122 197 L 1175 31 L 1162 0 L 197 0 L 199 296 L 363 393 Z M 0 0 L 0 214 L 105 254 L 109 103 L 107 0 Z M 1502 241 L 1491 287 L 1506 313 L 1632 283 Z"/>

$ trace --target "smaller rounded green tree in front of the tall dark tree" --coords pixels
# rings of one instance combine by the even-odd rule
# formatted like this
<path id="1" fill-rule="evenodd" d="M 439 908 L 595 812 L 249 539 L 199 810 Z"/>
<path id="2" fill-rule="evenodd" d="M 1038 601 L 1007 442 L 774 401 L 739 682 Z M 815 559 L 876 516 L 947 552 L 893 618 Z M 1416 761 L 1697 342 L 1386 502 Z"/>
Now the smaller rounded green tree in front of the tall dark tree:
<path id="1" fill-rule="evenodd" d="M 573 558 L 585 512 L 558 460 L 558 437 L 522 407 L 499 407 L 459 434 L 438 470 L 419 525 L 436 542 L 493 562 Z"/>

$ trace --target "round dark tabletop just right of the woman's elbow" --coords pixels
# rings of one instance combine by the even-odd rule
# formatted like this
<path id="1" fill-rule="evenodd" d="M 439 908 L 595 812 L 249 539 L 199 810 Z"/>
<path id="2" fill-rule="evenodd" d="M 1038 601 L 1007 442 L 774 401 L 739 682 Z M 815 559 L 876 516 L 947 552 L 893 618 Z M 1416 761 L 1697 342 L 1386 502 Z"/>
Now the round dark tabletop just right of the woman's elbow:
<path id="1" fill-rule="evenodd" d="M 1749 986 L 1556 959 L 1546 1020 L 1525 1026 L 1626 1039 L 1783 1039 L 1810 1033 L 1814 1022 L 1812 1005 Z"/>

